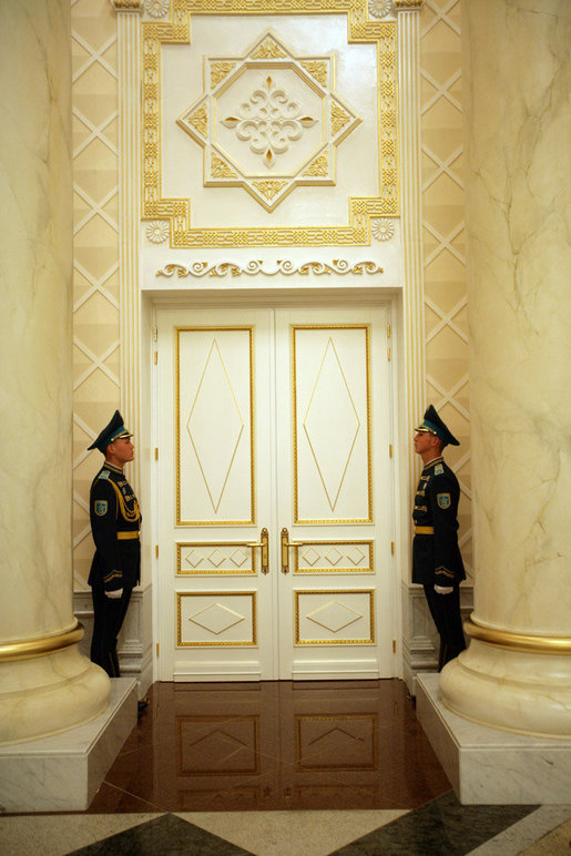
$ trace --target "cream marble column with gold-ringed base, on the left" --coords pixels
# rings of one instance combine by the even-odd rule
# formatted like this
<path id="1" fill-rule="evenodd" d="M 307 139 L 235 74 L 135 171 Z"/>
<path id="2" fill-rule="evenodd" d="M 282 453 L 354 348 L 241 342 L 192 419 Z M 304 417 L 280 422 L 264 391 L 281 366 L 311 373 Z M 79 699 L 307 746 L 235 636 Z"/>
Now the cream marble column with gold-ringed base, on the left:
<path id="1" fill-rule="evenodd" d="M 78 650 L 71 552 L 69 0 L 4 0 L 0 28 L 0 743 L 105 710 Z"/>

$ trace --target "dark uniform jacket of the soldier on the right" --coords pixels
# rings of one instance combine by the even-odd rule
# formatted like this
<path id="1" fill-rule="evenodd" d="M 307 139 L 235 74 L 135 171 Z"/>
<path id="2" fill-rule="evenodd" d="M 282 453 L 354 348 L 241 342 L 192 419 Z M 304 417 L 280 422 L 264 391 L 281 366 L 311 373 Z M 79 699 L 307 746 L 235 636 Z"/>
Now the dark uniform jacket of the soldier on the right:
<path id="1" fill-rule="evenodd" d="M 425 466 L 415 497 L 412 582 L 453 585 L 466 579 L 458 548 L 458 500 L 455 473 L 436 458 Z"/>

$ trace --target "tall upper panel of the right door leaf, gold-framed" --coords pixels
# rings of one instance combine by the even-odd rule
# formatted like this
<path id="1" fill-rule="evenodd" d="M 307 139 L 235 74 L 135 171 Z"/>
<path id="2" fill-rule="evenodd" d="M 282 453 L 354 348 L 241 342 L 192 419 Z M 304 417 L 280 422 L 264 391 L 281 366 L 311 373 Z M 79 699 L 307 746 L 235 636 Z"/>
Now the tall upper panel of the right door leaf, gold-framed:
<path id="1" fill-rule="evenodd" d="M 371 521 L 369 326 L 292 326 L 295 523 Z"/>

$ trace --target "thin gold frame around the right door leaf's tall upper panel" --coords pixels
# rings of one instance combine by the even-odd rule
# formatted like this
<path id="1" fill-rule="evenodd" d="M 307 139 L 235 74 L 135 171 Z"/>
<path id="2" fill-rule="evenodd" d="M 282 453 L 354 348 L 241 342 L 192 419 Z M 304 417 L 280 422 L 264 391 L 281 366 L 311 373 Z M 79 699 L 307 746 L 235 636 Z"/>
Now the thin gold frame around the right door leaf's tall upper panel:
<path id="1" fill-rule="evenodd" d="M 365 333 L 365 376 L 367 385 L 367 505 L 368 516 L 364 518 L 299 518 L 299 497 L 298 497 L 298 452 L 297 452 L 297 381 L 296 381 L 296 340 L 297 330 L 349 330 L 361 329 Z M 371 523 L 373 522 L 373 468 L 371 468 L 371 447 L 370 447 L 370 327 L 368 324 L 293 324 L 292 325 L 292 419 L 294 438 L 294 523 Z M 334 346 L 335 347 L 335 346 Z M 324 355 L 325 358 L 325 355 Z M 341 369 L 343 371 L 343 369 Z M 344 376 L 345 378 L 345 376 Z M 317 381 L 316 381 L 317 383 Z M 346 386 L 348 389 L 347 381 Z M 350 390 L 349 395 L 350 395 Z M 353 399 L 351 399 L 353 400 Z M 353 447 L 351 447 L 353 451 Z M 315 457 L 315 456 L 314 456 Z M 349 454 L 350 457 L 350 454 Z M 348 466 L 347 458 L 347 466 Z M 319 465 L 316 460 L 322 482 L 324 481 Z M 345 473 L 344 473 L 345 478 Z M 343 480 L 341 480 L 343 483 Z M 340 490 L 340 488 L 339 488 Z"/>

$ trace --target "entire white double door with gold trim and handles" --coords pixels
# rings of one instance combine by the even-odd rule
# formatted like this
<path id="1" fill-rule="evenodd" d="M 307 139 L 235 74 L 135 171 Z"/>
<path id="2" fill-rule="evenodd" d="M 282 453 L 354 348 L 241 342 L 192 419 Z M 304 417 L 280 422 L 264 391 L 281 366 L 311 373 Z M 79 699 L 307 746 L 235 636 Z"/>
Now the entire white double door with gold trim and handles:
<path id="1" fill-rule="evenodd" d="M 388 316 L 157 310 L 161 680 L 395 674 Z"/>

